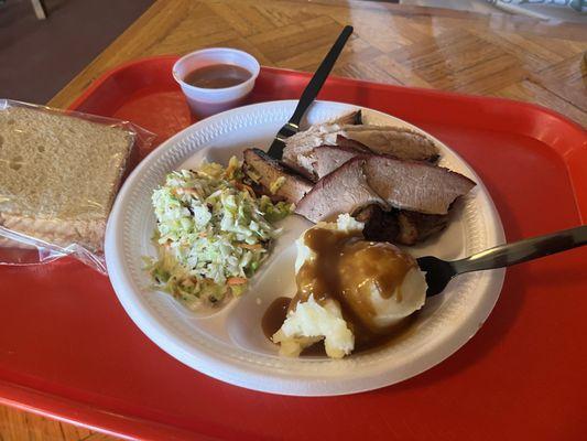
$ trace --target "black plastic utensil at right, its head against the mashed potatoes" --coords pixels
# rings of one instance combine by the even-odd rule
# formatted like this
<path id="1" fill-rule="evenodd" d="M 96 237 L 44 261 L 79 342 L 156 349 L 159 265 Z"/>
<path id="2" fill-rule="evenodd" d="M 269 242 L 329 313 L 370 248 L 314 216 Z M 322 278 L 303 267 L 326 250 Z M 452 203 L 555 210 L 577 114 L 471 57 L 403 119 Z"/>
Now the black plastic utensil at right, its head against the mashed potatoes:
<path id="1" fill-rule="evenodd" d="M 587 245 L 587 225 L 513 244 L 499 245 L 460 260 L 446 261 L 434 256 L 425 256 L 417 259 L 417 265 L 422 271 L 426 272 L 428 284 L 426 297 L 432 297 L 443 292 L 455 276 L 510 267 L 583 245 Z"/>

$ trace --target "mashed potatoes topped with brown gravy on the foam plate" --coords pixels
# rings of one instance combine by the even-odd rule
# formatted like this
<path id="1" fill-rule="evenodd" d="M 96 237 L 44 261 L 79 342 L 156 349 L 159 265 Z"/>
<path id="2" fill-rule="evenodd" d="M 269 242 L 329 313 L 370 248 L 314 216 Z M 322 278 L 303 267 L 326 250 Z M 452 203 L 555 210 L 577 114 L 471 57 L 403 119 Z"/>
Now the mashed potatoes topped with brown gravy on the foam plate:
<path id="1" fill-rule="evenodd" d="M 350 354 L 357 337 L 381 336 L 417 311 L 426 282 L 415 260 L 388 243 L 362 238 L 348 214 L 318 223 L 296 241 L 297 294 L 273 335 L 283 355 L 324 341 L 326 354 Z"/>

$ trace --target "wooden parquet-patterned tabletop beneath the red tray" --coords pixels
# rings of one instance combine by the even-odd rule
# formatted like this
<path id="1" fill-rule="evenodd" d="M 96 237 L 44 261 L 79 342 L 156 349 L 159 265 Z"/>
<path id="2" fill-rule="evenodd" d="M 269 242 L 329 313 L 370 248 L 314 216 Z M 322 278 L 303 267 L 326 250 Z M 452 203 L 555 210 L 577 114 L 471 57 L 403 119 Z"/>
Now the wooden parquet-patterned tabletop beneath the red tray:
<path id="1" fill-rule="evenodd" d="M 587 127 L 587 26 L 354 0 L 160 0 L 50 105 L 129 60 L 209 46 L 312 72 L 345 24 L 355 34 L 335 75 L 526 100 Z M 107 439 L 0 407 L 0 441 Z"/>

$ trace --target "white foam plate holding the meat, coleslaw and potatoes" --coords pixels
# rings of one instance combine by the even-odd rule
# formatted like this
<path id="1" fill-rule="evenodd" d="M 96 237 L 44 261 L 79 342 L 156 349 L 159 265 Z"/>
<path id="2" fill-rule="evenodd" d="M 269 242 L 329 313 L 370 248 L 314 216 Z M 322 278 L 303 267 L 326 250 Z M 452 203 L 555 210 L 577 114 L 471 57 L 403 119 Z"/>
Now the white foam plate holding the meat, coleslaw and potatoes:
<path id="1" fill-rule="evenodd" d="M 142 257 L 155 256 L 152 191 L 172 170 L 196 165 L 203 159 L 226 164 L 246 148 L 267 149 L 296 103 L 262 103 L 216 115 L 177 133 L 144 159 L 127 179 L 108 222 L 106 260 L 111 283 L 127 313 L 149 338 L 187 366 L 232 385 L 273 394 L 331 396 L 413 377 L 448 357 L 479 330 L 499 297 L 503 270 L 454 279 L 442 295 L 426 301 L 405 336 L 380 351 L 338 361 L 280 357 L 261 330 L 261 318 L 271 301 L 295 292 L 294 240 L 311 225 L 296 215 L 284 220 L 284 234 L 249 291 L 218 313 L 192 313 L 169 294 L 150 289 Z M 317 101 L 308 110 L 306 123 L 354 109 L 357 107 L 347 104 Z M 376 110 L 363 109 L 363 116 L 370 123 L 414 128 Z M 442 151 L 441 164 L 471 178 L 477 186 L 455 209 L 448 228 L 412 247 L 411 252 L 457 259 L 502 244 L 503 228 L 483 183 L 458 154 L 434 141 Z"/>

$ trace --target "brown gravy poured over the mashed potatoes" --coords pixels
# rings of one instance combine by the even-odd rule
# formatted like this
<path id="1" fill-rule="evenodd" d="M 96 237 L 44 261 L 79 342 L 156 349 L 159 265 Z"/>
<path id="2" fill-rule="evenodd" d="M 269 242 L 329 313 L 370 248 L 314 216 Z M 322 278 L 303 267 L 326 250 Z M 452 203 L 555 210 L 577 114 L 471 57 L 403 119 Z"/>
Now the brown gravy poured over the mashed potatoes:
<path id="1" fill-rule="evenodd" d="M 415 265 L 411 257 L 388 243 L 362 240 L 360 233 L 313 228 L 305 233 L 304 241 L 316 258 L 306 261 L 296 276 L 297 293 L 291 299 L 276 299 L 263 316 L 263 331 L 270 338 L 283 324 L 289 309 L 309 295 L 319 303 L 327 299 L 338 301 L 343 316 L 355 334 L 355 351 L 363 352 L 388 344 L 404 334 L 414 321 L 415 314 L 396 325 L 378 327 L 372 319 L 374 310 L 368 299 L 371 283 L 376 283 L 383 297 L 395 293 L 402 301 L 401 286 L 407 271 Z M 268 324 L 271 323 L 271 326 Z M 314 345 L 323 347 L 323 345 Z M 303 355 L 323 354 L 322 349 L 307 348 Z"/>

